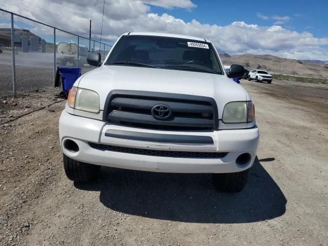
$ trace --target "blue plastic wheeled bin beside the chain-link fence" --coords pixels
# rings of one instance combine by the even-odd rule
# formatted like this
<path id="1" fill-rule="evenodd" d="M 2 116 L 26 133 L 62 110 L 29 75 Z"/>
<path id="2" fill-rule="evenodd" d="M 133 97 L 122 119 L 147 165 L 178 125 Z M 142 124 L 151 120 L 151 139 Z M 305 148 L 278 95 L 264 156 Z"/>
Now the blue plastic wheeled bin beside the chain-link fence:
<path id="1" fill-rule="evenodd" d="M 81 76 L 81 68 L 57 67 L 57 71 L 60 71 L 63 84 L 63 91 L 59 95 L 67 98 L 68 92 L 73 87 L 74 82 Z"/>

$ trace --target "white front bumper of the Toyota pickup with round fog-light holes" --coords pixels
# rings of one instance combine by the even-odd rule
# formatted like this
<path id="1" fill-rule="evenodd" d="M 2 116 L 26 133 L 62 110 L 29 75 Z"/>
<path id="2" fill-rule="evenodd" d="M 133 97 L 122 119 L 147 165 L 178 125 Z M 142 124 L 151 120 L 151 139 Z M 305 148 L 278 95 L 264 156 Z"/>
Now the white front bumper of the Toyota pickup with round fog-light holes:
<path id="1" fill-rule="evenodd" d="M 165 142 L 121 139 L 106 136 L 105 133 L 108 130 L 128 130 L 145 134 L 210 136 L 213 139 L 213 144 L 168 144 Z M 94 165 L 170 173 L 233 173 L 249 169 L 253 165 L 259 132 L 256 126 L 251 129 L 219 130 L 213 132 L 174 132 L 137 129 L 110 125 L 104 121 L 71 115 L 64 110 L 59 119 L 59 138 L 61 149 L 65 155 Z M 67 150 L 64 146 L 66 139 L 75 141 L 79 150 L 77 152 Z M 99 150 L 90 147 L 89 142 L 138 149 L 228 152 L 228 154 L 222 158 L 150 156 Z M 251 158 L 244 165 L 238 165 L 236 159 L 243 153 L 249 153 Z"/>

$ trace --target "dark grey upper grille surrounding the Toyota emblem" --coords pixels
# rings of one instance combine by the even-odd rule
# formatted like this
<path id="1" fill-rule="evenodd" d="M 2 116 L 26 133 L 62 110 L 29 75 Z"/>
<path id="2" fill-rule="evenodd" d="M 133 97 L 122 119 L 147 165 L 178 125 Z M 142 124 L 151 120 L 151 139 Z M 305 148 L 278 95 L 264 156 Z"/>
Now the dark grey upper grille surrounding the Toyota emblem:
<path id="1" fill-rule="evenodd" d="M 172 115 L 157 119 L 155 105 L 167 105 Z M 114 90 L 108 95 L 103 119 L 115 125 L 158 130 L 217 130 L 218 113 L 211 97 Z"/>

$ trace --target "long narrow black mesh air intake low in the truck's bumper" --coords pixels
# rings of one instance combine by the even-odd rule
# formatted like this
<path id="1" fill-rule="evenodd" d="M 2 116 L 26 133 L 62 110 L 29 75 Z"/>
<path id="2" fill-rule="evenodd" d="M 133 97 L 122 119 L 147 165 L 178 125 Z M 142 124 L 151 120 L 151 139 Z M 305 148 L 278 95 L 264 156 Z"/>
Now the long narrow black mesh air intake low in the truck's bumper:
<path id="1" fill-rule="evenodd" d="M 120 147 L 112 145 L 101 145 L 89 142 L 89 145 L 93 149 L 103 151 L 121 152 L 135 155 L 150 155 L 161 157 L 176 157 L 176 158 L 223 158 L 228 152 L 190 152 L 190 151 L 170 151 L 170 150 L 149 150 L 149 149 L 137 149 L 129 147 Z"/>

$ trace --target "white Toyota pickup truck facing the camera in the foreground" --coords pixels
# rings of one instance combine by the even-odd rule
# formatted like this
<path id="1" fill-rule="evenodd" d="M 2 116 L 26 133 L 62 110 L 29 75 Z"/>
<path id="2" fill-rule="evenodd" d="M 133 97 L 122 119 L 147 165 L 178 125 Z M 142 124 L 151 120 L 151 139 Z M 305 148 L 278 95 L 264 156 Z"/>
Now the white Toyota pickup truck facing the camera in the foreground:
<path id="1" fill-rule="evenodd" d="M 100 166 L 213 173 L 214 186 L 245 186 L 259 139 L 254 105 L 229 77 L 211 42 L 163 33 L 126 33 L 103 64 L 79 77 L 59 119 L 64 169 L 74 181 Z"/>

